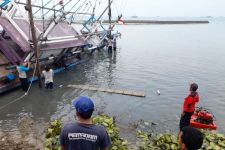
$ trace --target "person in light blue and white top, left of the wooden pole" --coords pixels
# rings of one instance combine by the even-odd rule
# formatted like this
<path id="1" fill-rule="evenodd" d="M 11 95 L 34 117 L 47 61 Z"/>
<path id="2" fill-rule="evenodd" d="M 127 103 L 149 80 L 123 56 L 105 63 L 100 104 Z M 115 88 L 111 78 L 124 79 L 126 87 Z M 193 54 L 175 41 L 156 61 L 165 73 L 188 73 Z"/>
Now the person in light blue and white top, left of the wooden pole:
<path id="1" fill-rule="evenodd" d="M 17 62 L 16 69 L 19 73 L 19 79 L 22 85 L 23 91 L 27 91 L 29 88 L 29 83 L 27 79 L 27 71 L 30 70 L 30 62 L 20 63 Z"/>

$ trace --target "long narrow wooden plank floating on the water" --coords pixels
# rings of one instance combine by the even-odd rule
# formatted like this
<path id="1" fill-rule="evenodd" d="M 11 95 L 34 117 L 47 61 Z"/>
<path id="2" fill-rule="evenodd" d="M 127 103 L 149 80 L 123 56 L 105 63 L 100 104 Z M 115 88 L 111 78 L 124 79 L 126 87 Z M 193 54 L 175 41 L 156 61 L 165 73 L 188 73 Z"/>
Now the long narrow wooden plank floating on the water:
<path id="1" fill-rule="evenodd" d="M 136 97 L 145 97 L 146 96 L 145 92 L 142 92 L 142 91 L 98 88 L 98 87 L 94 87 L 91 85 L 68 85 L 67 87 L 82 89 L 82 90 L 89 90 L 89 91 L 98 91 L 98 92 L 107 92 L 107 93 L 114 93 L 114 94 L 136 96 Z"/>

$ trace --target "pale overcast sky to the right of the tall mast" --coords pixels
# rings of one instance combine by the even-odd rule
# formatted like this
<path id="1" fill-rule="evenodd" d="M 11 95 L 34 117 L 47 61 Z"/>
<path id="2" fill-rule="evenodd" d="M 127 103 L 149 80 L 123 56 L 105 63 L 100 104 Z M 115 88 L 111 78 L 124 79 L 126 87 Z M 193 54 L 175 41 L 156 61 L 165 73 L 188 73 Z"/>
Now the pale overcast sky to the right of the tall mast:
<path id="1" fill-rule="evenodd" d="M 106 0 L 104 0 L 106 1 Z M 124 16 L 225 16 L 225 0 L 114 0 Z M 123 8 L 124 7 L 124 8 Z"/>

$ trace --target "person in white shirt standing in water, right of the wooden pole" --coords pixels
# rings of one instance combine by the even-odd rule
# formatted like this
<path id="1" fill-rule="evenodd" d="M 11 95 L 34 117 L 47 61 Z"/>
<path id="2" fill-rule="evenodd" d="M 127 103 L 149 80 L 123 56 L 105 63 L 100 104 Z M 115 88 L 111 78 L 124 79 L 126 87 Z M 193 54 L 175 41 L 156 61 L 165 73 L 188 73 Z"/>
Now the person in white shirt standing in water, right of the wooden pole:
<path id="1" fill-rule="evenodd" d="M 53 89 L 53 76 L 54 76 L 53 70 L 49 66 L 46 66 L 45 70 L 42 71 L 42 75 L 45 78 L 45 88 Z"/>

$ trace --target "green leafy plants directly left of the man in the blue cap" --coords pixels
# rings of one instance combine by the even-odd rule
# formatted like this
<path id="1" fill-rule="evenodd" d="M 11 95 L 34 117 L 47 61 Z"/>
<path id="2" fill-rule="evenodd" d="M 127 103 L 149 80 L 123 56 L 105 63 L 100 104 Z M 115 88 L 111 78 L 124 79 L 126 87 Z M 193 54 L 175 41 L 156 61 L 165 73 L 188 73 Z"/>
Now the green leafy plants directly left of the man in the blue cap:
<path id="1" fill-rule="evenodd" d="M 62 128 L 62 122 L 55 120 L 50 123 L 45 135 L 44 150 L 60 150 L 59 135 Z"/>

